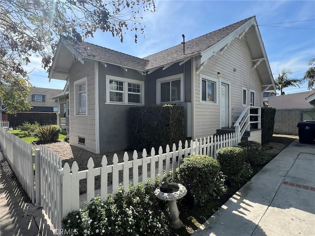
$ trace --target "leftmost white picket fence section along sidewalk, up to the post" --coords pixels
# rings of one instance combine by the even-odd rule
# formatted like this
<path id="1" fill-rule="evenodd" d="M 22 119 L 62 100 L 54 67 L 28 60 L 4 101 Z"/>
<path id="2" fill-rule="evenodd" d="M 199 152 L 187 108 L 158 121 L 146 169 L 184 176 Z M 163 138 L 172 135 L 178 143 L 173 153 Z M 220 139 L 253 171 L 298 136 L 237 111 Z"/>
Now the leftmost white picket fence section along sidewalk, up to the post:
<path id="1" fill-rule="evenodd" d="M 0 127 L 0 146 L 15 176 L 35 203 L 32 145 Z"/>

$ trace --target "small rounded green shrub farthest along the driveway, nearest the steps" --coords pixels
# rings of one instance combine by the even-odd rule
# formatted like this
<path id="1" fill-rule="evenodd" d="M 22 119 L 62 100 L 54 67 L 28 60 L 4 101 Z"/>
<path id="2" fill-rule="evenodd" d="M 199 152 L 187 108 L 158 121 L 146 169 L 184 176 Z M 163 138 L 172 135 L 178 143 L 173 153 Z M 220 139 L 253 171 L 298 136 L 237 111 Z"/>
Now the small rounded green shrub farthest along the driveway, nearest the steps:
<path id="1" fill-rule="evenodd" d="M 246 150 L 246 162 L 250 163 L 252 166 L 257 166 L 261 164 L 261 161 L 259 160 L 261 144 L 255 141 L 242 141 L 238 144 L 238 146 Z"/>

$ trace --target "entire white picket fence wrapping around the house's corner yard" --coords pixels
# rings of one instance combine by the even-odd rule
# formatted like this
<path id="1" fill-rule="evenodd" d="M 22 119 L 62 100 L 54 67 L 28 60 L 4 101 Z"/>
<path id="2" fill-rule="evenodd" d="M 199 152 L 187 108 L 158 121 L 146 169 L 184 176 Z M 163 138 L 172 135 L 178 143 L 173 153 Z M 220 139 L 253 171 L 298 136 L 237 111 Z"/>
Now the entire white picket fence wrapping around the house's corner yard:
<path id="1" fill-rule="evenodd" d="M 138 153 L 133 152 L 132 160 L 129 160 L 125 152 L 124 162 L 118 163 L 118 156 L 114 154 L 113 164 L 107 165 L 107 157 L 104 155 L 101 167 L 94 168 L 94 160 L 89 159 L 87 170 L 79 171 L 77 162 L 73 162 L 71 168 L 65 163 L 62 168 L 62 161 L 51 150 L 40 145 L 32 155 L 32 146 L 0 128 L 0 146 L 3 150 L 14 173 L 18 177 L 23 188 L 26 190 L 32 203 L 37 207 L 43 207 L 48 218 L 56 229 L 62 229 L 61 221 L 70 211 L 80 208 L 79 181 L 86 179 L 87 194 L 86 201 L 90 202 L 95 197 L 95 177 L 100 176 L 100 196 L 102 200 L 107 199 L 108 193 L 114 195 L 121 185 L 126 192 L 129 190 L 129 182 L 137 186 L 139 181 L 147 183 L 148 177 L 155 181 L 158 175 L 162 180 L 163 172 L 169 175 L 181 164 L 182 158 L 202 154 L 216 158 L 217 149 L 236 146 L 240 141 L 239 134 L 231 133 L 220 136 L 211 136 L 204 139 L 179 142 L 178 147 L 173 144 L 172 150 L 166 147 L 163 153 L 160 147 L 158 153 L 152 148 L 150 153 L 143 149 L 142 158 L 138 159 Z M 150 155 L 148 155 L 150 154 Z M 35 174 L 33 172 L 35 164 Z M 156 168 L 156 164 L 158 168 Z M 148 169 L 150 166 L 150 169 Z M 139 175 L 139 168 L 142 169 Z M 132 177 L 129 178 L 129 169 L 132 169 Z M 123 174 L 123 180 L 119 181 L 119 172 Z M 112 177 L 112 185 L 108 185 L 108 177 Z M 176 175 L 173 172 L 173 175 Z M 35 182 L 35 186 L 34 186 Z"/>

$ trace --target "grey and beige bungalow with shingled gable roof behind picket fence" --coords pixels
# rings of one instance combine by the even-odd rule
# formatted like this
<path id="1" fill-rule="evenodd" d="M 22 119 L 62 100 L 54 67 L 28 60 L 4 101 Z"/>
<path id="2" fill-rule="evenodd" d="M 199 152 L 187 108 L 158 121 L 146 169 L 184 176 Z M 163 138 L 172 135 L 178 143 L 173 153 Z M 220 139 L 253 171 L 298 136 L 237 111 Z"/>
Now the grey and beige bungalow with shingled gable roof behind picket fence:
<path id="1" fill-rule="evenodd" d="M 49 79 L 68 81 L 70 144 L 95 153 L 128 147 L 130 107 L 184 106 L 196 139 L 233 127 L 275 89 L 255 17 L 143 59 L 62 37 Z"/>

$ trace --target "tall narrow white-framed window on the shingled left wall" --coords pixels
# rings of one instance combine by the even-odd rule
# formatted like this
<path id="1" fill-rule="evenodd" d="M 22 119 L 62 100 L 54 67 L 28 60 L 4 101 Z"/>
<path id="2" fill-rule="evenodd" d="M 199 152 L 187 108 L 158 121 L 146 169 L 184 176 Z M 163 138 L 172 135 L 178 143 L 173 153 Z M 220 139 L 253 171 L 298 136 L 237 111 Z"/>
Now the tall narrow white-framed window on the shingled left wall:
<path id="1" fill-rule="evenodd" d="M 74 82 L 75 115 L 88 115 L 87 77 Z"/>

